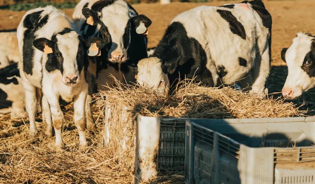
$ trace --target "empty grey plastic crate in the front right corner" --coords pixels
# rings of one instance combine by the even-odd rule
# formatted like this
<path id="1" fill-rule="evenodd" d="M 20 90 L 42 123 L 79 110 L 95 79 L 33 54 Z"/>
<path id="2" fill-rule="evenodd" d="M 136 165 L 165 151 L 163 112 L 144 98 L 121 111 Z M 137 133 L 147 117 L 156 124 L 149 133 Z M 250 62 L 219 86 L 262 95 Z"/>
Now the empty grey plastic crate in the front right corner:
<path id="1" fill-rule="evenodd" d="M 315 118 L 186 121 L 186 184 L 315 184 Z"/>

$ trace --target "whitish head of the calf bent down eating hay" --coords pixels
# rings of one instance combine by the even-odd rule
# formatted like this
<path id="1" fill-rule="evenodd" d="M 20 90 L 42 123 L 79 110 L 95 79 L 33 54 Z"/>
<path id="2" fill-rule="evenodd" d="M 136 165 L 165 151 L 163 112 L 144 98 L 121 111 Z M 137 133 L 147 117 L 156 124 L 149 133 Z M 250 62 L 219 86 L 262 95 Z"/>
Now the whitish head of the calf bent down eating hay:
<path id="1" fill-rule="evenodd" d="M 169 78 L 162 71 L 162 62 L 157 57 L 149 57 L 138 62 L 137 82 L 165 94 L 169 89 Z"/>

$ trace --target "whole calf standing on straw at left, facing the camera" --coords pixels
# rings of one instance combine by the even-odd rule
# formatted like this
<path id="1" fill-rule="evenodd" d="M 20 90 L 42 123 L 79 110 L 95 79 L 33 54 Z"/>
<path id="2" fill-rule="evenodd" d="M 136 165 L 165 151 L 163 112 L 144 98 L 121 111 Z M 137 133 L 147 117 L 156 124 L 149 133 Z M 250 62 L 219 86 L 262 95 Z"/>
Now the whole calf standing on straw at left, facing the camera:
<path id="1" fill-rule="evenodd" d="M 106 42 L 95 37 L 83 40 L 72 21 L 53 6 L 27 11 L 17 28 L 17 38 L 31 142 L 38 140 L 34 102 L 40 96 L 44 134 L 52 136 L 52 122 L 56 151 L 65 148 L 61 137 L 64 121 L 59 104 L 61 97 L 66 102 L 74 99 L 74 123 L 79 132 L 80 148 L 85 147 L 87 52 L 99 52 Z"/>

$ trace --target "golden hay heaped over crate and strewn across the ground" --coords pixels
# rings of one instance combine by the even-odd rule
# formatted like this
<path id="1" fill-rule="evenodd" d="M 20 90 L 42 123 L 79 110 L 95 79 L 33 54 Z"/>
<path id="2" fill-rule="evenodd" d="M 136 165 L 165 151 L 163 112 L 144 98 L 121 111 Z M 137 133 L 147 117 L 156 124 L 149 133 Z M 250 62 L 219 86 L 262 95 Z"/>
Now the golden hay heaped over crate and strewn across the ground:
<path id="1" fill-rule="evenodd" d="M 117 82 L 117 81 L 116 81 Z M 103 128 L 104 104 L 111 107 L 109 145 L 103 132 L 87 133 L 86 151 L 78 149 L 78 133 L 72 122 L 73 104 L 63 107 L 63 139 L 66 150 L 54 152 L 54 138 L 44 138 L 41 116 L 37 116 L 40 141 L 28 140 L 28 119 L 0 117 L 0 183 L 133 183 L 135 123 L 137 114 L 146 116 L 192 118 L 289 117 L 299 115 L 293 103 L 281 99 L 259 99 L 231 88 L 203 88 L 189 80 L 182 82 L 169 96 L 118 83 L 101 92 L 99 108 L 93 116 Z M 104 97 L 107 97 L 106 99 Z M 122 108 L 130 107 L 122 118 Z M 111 122 L 113 122 L 111 124 Z M 125 139 L 127 149 L 121 147 Z M 183 173 L 160 176 L 147 183 L 184 183 Z"/>

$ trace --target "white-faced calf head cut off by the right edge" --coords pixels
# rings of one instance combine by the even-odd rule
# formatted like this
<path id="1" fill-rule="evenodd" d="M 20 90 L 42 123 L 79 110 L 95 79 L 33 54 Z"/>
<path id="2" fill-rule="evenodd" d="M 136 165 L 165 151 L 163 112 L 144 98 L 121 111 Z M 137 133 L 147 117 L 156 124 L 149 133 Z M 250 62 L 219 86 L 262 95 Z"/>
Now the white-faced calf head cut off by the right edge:
<path id="1" fill-rule="evenodd" d="M 282 89 L 286 98 L 296 98 L 315 86 L 315 37 L 298 33 L 289 48 L 282 49 L 281 58 L 288 66 Z"/>

